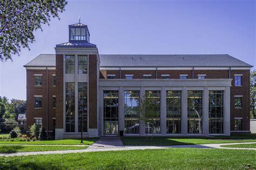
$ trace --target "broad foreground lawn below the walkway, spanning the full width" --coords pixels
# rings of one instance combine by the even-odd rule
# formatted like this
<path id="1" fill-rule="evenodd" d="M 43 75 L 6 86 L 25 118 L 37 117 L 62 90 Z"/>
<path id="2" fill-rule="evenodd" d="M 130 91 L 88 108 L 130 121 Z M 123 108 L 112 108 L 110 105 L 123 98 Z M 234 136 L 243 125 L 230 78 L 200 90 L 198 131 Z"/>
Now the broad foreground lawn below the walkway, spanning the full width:
<path id="1" fill-rule="evenodd" d="M 0 157 L 0 169 L 256 168 L 255 151 L 197 148 Z"/>

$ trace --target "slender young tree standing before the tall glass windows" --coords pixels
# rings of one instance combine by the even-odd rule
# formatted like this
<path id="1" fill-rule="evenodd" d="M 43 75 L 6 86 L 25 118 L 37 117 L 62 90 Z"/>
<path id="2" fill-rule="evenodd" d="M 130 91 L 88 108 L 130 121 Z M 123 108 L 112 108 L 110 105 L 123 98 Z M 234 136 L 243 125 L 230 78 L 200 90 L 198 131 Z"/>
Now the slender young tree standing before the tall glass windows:
<path id="1" fill-rule="evenodd" d="M 151 131 L 152 138 L 157 125 L 157 119 L 159 119 L 160 112 L 158 111 L 159 103 L 157 100 L 152 100 L 150 93 L 144 95 L 143 100 L 140 101 L 139 105 L 139 119 L 145 124 L 146 138 L 147 133 Z"/>

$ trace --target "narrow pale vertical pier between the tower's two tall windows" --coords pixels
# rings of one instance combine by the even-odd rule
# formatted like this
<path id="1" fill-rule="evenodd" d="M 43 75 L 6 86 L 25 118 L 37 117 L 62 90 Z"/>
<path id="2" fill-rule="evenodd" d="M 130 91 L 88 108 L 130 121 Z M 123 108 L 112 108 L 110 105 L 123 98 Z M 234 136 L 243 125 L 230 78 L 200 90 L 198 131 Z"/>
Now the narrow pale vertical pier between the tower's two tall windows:
<path id="1" fill-rule="evenodd" d="M 75 132 L 78 132 L 78 56 L 75 55 Z"/>

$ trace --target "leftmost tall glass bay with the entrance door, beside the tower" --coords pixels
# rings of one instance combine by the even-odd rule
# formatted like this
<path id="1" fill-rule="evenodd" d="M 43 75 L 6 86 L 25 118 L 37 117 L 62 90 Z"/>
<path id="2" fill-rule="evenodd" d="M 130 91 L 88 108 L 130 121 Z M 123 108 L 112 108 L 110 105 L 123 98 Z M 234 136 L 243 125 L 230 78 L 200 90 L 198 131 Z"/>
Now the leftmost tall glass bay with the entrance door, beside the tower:
<path id="1" fill-rule="evenodd" d="M 104 135 L 118 134 L 118 91 L 103 91 Z"/>

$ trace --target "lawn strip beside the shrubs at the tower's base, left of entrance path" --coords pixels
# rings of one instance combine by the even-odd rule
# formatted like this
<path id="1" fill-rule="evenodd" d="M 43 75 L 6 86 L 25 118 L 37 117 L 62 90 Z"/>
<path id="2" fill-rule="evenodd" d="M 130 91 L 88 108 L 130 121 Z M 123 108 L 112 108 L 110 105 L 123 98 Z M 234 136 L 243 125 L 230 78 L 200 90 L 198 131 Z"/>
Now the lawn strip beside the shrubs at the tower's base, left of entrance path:
<path id="1" fill-rule="evenodd" d="M 30 145 L 92 145 L 98 138 L 84 138 L 84 144 L 80 144 L 80 139 L 63 140 L 38 140 L 38 141 L 10 141 L 10 139 L 0 139 L 0 144 L 30 144 Z"/>

